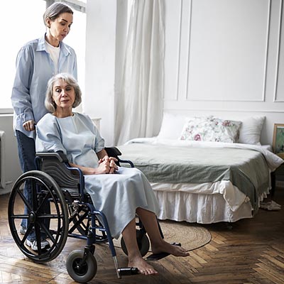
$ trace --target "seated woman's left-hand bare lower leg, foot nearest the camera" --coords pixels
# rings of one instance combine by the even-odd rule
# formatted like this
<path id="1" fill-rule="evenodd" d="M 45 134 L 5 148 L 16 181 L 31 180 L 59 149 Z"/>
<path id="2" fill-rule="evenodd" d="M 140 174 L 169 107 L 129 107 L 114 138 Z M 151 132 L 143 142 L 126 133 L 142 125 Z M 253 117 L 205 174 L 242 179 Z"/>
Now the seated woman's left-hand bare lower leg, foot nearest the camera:
<path id="1" fill-rule="evenodd" d="M 133 219 L 122 231 L 122 236 L 124 237 L 124 243 L 129 256 L 129 267 L 138 268 L 139 273 L 144 275 L 156 275 L 157 271 L 153 266 L 149 265 L 141 256 L 138 249 L 138 244 L 136 240 L 136 221 Z"/>

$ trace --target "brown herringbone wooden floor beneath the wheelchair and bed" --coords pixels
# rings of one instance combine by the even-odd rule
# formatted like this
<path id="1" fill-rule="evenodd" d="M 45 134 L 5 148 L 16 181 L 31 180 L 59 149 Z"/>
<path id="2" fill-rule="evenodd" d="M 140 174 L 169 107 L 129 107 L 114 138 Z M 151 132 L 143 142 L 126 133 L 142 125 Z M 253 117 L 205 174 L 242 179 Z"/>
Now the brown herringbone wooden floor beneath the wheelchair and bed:
<path id="1" fill-rule="evenodd" d="M 67 274 L 65 259 L 85 242 L 68 239 L 58 258 L 49 263 L 29 261 L 14 244 L 7 221 L 9 195 L 0 195 L 0 283 L 74 283 Z M 116 278 L 114 264 L 105 245 L 96 246 L 98 263 L 96 277 L 89 283 L 245 283 L 284 284 L 284 188 L 273 197 L 282 205 L 280 211 L 260 209 L 253 219 L 232 224 L 204 225 L 212 241 L 190 252 L 187 258 L 168 256 L 153 263 L 158 276 L 134 275 Z M 119 265 L 126 266 L 127 258 L 117 249 Z"/>

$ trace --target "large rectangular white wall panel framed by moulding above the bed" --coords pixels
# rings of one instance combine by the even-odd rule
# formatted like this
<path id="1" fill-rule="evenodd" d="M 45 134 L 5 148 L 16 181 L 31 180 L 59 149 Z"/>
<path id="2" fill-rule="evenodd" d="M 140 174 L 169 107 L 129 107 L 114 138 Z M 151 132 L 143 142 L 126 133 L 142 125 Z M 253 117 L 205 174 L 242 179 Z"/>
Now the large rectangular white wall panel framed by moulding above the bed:
<path id="1" fill-rule="evenodd" d="M 264 100 L 269 0 L 192 0 L 187 99 Z"/>

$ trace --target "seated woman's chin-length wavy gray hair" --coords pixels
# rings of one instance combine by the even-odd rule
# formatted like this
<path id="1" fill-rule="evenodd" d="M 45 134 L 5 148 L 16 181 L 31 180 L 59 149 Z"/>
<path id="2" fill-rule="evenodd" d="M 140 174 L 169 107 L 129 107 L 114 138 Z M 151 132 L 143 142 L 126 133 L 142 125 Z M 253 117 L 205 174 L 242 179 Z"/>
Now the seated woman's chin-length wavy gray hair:
<path id="1" fill-rule="evenodd" d="M 55 75 L 53 77 L 50 78 L 50 80 L 48 81 L 48 90 L 46 91 L 46 96 L 45 96 L 45 107 L 46 109 L 48 109 L 48 111 L 50 111 L 51 113 L 53 113 L 57 107 L 57 105 L 55 104 L 54 100 L 53 100 L 53 85 L 57 80 L 63 80 L 64 82 L 66 82 L 67 84 L 69 84 L 71 87 L 74 88 L 75 90 L 75 101 L 74 104 L 72 105 L 72 107 L 78 107 L 79 104 L 81 104 L 82 102 L 82 92 L 81 89 L 79 87 L 79 84 L 77 83 L 77 80 L 75 80 L 74 77 L 72 77 L 72 75 L 67 74 L 67 73 L 60 73 L 58 75 Z"/>

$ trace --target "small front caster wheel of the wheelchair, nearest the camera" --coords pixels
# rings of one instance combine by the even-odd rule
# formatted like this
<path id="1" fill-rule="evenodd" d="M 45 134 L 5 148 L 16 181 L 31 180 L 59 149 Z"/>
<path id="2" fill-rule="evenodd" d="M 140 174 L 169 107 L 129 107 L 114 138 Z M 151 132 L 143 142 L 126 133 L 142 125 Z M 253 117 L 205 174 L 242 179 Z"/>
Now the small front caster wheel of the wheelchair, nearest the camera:
<path id="1" fill-rule="evenodd" d="M 84 263 L 84 251 L 72 251 L 66 260 L 66 268 L 70 277 L 78 283 L 87 283 L 97 273 L 97 261 L 92 253 L 88 253 Z"/>

